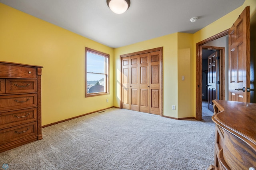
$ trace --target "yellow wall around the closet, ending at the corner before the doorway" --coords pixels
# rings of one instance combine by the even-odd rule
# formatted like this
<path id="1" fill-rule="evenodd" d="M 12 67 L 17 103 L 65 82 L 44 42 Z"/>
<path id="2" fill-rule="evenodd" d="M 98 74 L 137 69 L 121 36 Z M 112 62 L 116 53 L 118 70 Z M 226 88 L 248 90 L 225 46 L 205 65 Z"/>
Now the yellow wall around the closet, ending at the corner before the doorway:
<path id="1" fill-rule="evenodd" d="M 120 55 L 156 47 L 163 47 L 163 115 L 193 117 L 193 34 L 175 33 L 114 49 L 114 105 L 120 106 Z M 185 81 L 181 81 L 182 75 Z M 172 110 L 172 105 L 176 110 Z"/>

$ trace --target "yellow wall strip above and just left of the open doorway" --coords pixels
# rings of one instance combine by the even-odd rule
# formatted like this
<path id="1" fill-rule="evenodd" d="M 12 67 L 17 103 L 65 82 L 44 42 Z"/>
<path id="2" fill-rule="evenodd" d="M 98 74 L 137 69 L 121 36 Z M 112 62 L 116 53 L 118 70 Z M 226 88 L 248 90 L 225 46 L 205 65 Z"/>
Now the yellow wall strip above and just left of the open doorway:
<path id="1" fill-rule="evenodd" d="M 193 68 L 194 68 L 194 103 L 193 103 L 193 111 L 194 117 L 196 117 L 196 43 L 201 42 L 207 38 L 210 38 L 224 30 L 229 29 L 233 23 L 236 21 L 238 16 L 242 13 L 246 6 L 250 6 L 250 18 L 254 16 L 256 13 L 256 0 L 245 0 L 244 4 L 239 8 L 236 8 L 232 12 L 223 16 L 222 18 L 216 20 L 215 22 L 209 24 L 202 30 L 199 30 L 194 34 L 194 58 L 193 58 Z"/>

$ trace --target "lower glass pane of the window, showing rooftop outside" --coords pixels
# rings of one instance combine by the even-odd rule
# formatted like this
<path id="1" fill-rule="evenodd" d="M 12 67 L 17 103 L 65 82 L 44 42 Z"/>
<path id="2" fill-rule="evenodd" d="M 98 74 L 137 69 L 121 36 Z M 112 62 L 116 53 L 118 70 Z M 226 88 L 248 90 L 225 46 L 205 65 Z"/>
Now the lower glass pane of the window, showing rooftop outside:
<path id="1" fill-rule="evenodd" d="M 105 75 L 87 73 L 87 93 L 106 92 Z"/>

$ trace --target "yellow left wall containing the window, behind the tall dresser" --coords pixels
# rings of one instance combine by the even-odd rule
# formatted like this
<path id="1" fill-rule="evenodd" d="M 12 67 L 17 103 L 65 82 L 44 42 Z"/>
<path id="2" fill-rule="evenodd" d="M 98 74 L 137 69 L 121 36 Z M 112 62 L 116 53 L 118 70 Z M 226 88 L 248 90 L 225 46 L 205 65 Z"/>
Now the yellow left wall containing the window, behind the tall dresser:
<path id="1" fill-rule="evenodd" d="M 85 47 L 110 54 L 110 95 L 85 98 Z M 2 3 L 0 61 L 44 67 L 42 125 L 113 106 L 112 48 Z"/>

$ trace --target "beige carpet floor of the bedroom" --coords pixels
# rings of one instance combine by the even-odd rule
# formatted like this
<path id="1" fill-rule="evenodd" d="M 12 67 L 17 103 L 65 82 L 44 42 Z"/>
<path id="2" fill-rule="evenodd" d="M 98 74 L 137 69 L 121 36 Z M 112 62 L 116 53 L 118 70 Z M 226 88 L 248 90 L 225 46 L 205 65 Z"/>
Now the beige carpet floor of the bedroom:
<path id="1" fill-rule="evenodd" d="M 0 153 L 7 170 L 206 170 L 214 123 L 107 109 L 42 129 L 43 139 Z"/>

